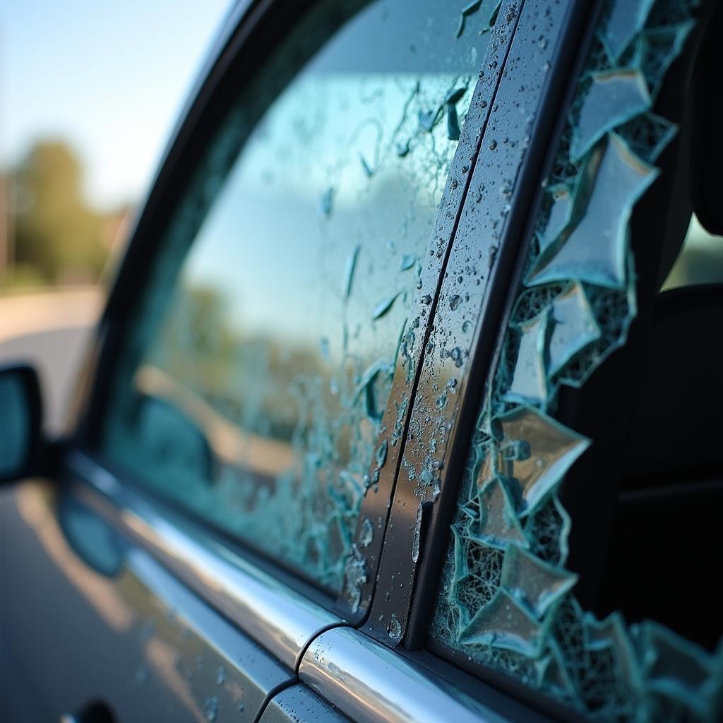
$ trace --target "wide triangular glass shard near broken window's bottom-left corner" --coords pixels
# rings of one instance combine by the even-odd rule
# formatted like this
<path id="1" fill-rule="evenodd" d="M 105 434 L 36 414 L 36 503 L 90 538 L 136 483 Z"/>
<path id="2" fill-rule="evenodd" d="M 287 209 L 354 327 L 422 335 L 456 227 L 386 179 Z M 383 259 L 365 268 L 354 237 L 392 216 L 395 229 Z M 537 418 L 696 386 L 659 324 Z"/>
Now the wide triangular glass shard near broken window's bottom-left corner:
<path id="1" fill-rule="evenodd" d="M 465 645 L 489 645 L 522 653 L 532 658 L 539 655 L 547 633 L 547 625 L 535 620 L 529 612 L 502 589 L 461 630 L 459 641 Z"/>

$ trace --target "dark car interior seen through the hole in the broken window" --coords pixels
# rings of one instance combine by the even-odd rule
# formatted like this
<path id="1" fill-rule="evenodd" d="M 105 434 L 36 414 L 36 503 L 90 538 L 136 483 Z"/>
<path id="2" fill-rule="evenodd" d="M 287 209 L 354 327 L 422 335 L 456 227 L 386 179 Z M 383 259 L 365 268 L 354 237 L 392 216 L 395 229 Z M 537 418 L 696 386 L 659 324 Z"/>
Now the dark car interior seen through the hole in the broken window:
<path id="1" fill-rule="evenodd" d="M 576 520 L 570 565 L 581 573 L 580 595 L 597 615 L 652 618 L 709 649 L 723 633 L 723 276 L 660 288 L 692 213 L 708 234 L 723 234 L 722 32 L 718 4 L 656 103 L 681 130 L 633 214 L 630 341 L 583 390 L 560 395 L 564 418 L 596 440 L 563 491 Z M 708 277 L 723 268 L 717 240 L 712 262 L 703 260 Z"/>

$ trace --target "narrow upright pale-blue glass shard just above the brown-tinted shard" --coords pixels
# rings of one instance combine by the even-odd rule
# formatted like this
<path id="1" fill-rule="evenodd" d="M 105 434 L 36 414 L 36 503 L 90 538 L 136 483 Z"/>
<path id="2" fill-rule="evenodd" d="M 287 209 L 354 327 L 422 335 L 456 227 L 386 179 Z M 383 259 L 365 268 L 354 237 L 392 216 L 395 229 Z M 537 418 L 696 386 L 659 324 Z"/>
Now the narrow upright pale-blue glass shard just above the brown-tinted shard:
<path id="1" fill-rule="evenodd" d="M 549 312 L 520 326 L 520 347 L 515 371 L 508 391 L 507 401 L 541 404 L 547 400 L 547 375 L 545 374 L 545 347 Z"/>

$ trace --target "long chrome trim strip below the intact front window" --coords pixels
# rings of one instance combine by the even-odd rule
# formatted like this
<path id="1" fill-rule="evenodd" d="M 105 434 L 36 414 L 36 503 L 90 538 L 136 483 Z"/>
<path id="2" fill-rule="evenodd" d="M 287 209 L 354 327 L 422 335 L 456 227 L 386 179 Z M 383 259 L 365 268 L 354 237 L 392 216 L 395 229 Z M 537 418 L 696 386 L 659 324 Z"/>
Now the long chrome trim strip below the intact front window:
<path id="1" fill-rule="evenodd" d="M 69 451 L 66 467 L 87 483 L 78 485 L 82 500 L 292 670 L 314 638 L 344 623 L 182 518 L 161 514 L 80 450 Z"/>

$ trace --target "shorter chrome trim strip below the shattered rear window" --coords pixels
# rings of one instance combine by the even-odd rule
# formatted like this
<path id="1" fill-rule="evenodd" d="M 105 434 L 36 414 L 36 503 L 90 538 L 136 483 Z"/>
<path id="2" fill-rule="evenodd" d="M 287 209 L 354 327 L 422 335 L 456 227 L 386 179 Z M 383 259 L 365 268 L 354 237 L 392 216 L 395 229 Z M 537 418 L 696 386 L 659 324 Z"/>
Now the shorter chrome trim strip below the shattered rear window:
<path id="1" fill-rule="evenodd" d="M 509 720 L 354 628 L 316 638 L 299 678 L 356 723 Z"/>

